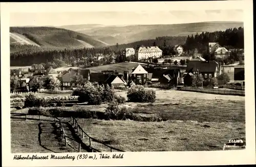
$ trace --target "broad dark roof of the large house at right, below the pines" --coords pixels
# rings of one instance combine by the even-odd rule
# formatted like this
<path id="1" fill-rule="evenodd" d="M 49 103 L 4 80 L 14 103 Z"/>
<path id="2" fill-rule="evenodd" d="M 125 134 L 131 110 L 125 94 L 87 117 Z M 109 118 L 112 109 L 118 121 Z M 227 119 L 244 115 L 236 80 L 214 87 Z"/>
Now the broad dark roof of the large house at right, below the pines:
<path id="1" fill-rule="evenodd" d="M 197 71 L 201 72 L 216 72 L 216 67 L 219 69 L 219 64 L 216 61 L 189 61 L 186 72 Z"/>

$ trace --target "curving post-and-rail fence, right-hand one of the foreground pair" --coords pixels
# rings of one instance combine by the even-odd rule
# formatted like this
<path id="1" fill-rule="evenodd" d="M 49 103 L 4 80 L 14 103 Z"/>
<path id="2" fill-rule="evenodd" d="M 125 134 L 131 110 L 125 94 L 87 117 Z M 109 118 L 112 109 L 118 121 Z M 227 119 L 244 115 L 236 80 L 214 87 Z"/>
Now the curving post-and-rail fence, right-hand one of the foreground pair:
<path id="1" fill-rule="evenodd" d="M 98 151 L 98 150 L 96 150 L 96 149 L 94 149 L 94 148 L 91 147 L 91 141 L 92 141 L 92 140 L 95 141 L 95 142 L 97 142 L 98 144 L 102 144 L 102 145 L 104 145 L 104 146 L 110 148 L 110 152 L 112 152 L 113 150 L 116 150 L 116 151 L 119 151 L 119 152 L 124 152 L 123 150 L 116 149 L 116 148 L 114 148 L 114 147 L 108 146 L 108 145 L 104 144 L 103 142 L 101 142 L 101 141 L 99 141 L 99 140 L 97 140 L 97 139 L 95 139 L 95 138 L 89 136 L 86 132 L 83 131 L 83 129 L 80 127 L 80 125 L 78 124 L 77 120 L 76 120 L 73 116 L 71 116 L 71 122 L 73 122 L 73 125 L 75 125 L 75 128 L 76 128 L 76 130 L 77 130 L 78 133 L 79 133 L 79 130 L 81 130 L 81 133 L 82 133 L 81 136 L 82 136 L 82 138 L 84 137 L 84 135 L 86 135 L 86 136 L 89 137 L 89 147 L 92 149 L 93 152 L 100 152 L 100 151 Z M 79 150 L 80 150 L 80 146 L 79 146 Z"/>

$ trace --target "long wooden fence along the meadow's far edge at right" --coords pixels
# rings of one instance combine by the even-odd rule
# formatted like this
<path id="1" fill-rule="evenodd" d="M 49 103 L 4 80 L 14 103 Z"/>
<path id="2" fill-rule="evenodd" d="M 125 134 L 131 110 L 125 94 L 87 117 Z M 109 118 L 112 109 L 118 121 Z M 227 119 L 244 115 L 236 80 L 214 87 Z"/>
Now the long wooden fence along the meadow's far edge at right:
<path id="1" fill-rule="evenodd" d="M 195 92 L 202 92 L 202 93 L 212 93 L 212 94 L 245 96 L 244 90 L 221 90 L 221 89 L 204 89 L 204 88 L 201 89 L 201 88 L 194 88 L 194 87 L 181 87 L 180 90 L 195 91 Z"/>

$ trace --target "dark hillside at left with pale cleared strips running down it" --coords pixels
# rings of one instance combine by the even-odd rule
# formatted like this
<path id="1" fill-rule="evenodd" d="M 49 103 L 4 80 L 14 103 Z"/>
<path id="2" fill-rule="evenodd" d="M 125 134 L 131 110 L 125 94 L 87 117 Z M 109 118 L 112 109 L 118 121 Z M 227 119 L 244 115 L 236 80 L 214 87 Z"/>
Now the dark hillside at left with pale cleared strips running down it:
<path id="1" fill-rule="evenodd" d="M 108 43 L 86 34 L 54 27 L 10 27 L 10 45 L 11 52 L 15 52 L 15 48 L 21 47 L 15 45 L 33 45 L 42 49 L 80 49 L 102 47 Z"/>

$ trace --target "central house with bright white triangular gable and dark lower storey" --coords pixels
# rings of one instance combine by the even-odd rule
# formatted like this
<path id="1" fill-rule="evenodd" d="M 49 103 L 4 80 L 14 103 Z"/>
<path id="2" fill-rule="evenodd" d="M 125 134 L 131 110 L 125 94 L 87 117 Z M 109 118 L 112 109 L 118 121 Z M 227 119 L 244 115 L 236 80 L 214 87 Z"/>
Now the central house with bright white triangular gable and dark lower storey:
<path id="1" fill-rule="evenodd" d="M 131 80 L 136 85 L 144 85 L 147 83 L 147 71 L 140 64 L 133 69 L 131 74 Z"/>

